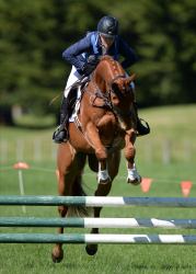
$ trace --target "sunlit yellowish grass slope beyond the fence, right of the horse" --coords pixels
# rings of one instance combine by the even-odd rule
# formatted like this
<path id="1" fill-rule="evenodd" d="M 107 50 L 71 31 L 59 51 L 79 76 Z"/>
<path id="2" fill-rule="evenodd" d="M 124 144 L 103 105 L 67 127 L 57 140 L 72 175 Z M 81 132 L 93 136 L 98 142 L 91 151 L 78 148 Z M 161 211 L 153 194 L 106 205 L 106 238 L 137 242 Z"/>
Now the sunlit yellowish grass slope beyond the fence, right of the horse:
<path id="1" fill-rule="evenodd" d="M 152 147 L 152 160 L 160 161 L 163 155 L 163 144 L 169 140 L 172 161 L 186 161 L 189 150 L 189 161 L 196 162 L 196 105 L 174 105 L 152 107 L 139 112 L 139 116 L 149 122 L 151 134 L 136 141 L 139 160 L 149 161 L 147 146 Z M 145 149 L 143 149 L 145 148 Z"/>

